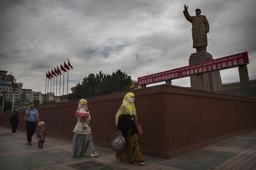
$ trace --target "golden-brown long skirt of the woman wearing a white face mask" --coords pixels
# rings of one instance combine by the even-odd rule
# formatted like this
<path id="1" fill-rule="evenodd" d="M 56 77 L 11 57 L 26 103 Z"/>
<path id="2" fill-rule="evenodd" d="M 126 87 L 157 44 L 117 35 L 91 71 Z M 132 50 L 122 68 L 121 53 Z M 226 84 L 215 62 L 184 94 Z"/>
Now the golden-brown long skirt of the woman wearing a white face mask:
<path id="1" fill-rule="evenodd" d="M 131 136 L 131 128 L 126 138 L 126 145 L 121 152 L 116 152 L 116 158 L 127 163 L 145 160 L 144 156 L 139 151 L 138 134 Z"/>

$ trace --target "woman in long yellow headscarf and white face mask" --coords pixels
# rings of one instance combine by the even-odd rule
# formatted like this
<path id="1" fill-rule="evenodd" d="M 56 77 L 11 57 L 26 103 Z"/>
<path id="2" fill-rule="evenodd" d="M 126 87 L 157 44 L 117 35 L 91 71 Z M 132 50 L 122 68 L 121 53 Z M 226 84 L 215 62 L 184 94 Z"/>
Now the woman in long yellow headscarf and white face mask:
<path id="1" fill-rule="evenodd" d="M 145 158 L 139 151 L 139 136 L 135 119 L 137 115 L 134 94 L 128 92 L 116 114 L 117 133 L 122 133 L 126 142 L 125 148 L 121 152 L 116 152 L 116 158 L 127 163 L 135 162 L 138 165 L 145 165 Z"/>

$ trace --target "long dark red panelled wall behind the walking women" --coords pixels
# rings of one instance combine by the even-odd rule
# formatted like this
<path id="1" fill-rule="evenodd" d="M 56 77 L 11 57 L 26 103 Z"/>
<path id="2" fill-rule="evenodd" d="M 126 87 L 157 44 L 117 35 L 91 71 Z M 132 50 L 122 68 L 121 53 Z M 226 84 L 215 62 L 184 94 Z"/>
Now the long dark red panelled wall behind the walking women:
<path id="1" fill-rule="evenodd" d="M 143 135 L 144 155 L 164 159 L 200 149 L 221 140 L 256 130 L 256 100 L 192 90 L 172 85 L 136 89 L 135 107 Z M 95 145 L 110 148 L 116 132 L 115 115 L 124 95 L 120 92 L 88 98 Z M 72 140 L 79 100 L 38 107 L 48 134 Z M 18 111 L 21 123 L 25 110 Z M 10 127 L 11 113 L 0 115 L 0 126 Z"/>

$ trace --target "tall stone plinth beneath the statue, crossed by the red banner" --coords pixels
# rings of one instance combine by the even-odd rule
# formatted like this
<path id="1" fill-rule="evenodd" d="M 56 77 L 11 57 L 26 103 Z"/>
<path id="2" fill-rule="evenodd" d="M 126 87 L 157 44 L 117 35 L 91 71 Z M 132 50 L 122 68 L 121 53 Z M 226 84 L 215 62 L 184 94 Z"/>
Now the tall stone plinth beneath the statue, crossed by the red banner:
<path id="1" fill-rule="evenodd" d="M 206 51 L 200 51 L 191 54 L 189 65 L 213 60 L 212 55 Z M 190 76 L 190 85 L 192 89 L 201 89 L 211 92 L 221 91 L 222 82 L 219 71 L 212 71 Z"/>

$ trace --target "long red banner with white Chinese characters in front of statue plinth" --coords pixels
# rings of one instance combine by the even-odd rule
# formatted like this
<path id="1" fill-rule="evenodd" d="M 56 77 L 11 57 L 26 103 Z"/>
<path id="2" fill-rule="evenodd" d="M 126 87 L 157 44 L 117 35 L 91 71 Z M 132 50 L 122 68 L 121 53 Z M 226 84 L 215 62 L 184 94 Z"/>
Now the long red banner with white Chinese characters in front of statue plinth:
<path id="1" fill-rule="evenodd" d="M 148 85 L 151 83 L 188 77 L 195 74 L 218 71 L 231 67 L 238 67 L 244 64 L 249 64 L 247 52 L 238 53 L 231 56 L 218 58 L 215 60 L 204 61 L 186 67 L 180 67 L 169 71 L 139 77 L 138 84 Z"/>

